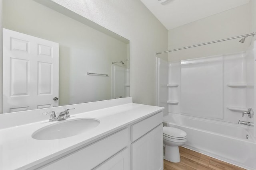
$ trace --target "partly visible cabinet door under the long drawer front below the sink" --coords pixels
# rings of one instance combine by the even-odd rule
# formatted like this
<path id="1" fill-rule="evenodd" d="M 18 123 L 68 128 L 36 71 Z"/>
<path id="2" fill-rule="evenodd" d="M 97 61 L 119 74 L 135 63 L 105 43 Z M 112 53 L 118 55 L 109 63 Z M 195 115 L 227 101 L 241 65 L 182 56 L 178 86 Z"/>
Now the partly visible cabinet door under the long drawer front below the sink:
<path id="1" fill-rule="evenodd" d="M 94 170 L 129 170 L 129 156 L 126 148 Z"/>

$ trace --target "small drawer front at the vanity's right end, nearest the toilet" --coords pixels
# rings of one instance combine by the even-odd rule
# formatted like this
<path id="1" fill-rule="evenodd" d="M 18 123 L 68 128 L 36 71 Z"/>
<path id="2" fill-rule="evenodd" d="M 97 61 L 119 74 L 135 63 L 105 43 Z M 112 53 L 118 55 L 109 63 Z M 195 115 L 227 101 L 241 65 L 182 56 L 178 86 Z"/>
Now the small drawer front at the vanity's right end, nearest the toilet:
<path id="1" fill-rule="evenodd" d="M 152 115 L 142 121 L 139 121 L 138 123 L 135 123 L 131 126 L 132 130 L 132 142 L 136 141 L 146 133 L 148 133 L 151 129 L 154 129 L 156 126 L 158 126 L 163 121 L 163 112 L 156 113 L 155 115 Z"/>

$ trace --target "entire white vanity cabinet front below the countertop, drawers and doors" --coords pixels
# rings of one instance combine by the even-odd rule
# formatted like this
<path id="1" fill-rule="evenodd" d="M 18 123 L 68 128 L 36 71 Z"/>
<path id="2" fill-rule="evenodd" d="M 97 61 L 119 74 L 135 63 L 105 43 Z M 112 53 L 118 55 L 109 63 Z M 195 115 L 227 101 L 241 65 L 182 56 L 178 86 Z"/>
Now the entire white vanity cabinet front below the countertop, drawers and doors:
<path id="1" fill-rule="evenodd" d="M 126 125 L 42 170 L 163 170 L 162 112 Z"/>

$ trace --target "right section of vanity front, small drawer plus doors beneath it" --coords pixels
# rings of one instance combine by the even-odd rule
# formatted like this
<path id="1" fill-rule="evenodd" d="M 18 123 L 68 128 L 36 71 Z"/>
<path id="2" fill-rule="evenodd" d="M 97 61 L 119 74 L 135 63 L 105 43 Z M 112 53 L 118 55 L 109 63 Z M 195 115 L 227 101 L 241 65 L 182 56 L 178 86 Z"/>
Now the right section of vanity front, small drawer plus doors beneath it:
<path id="1" fill-rule="evenodd" d="M 163 170 L 162 112 L 132 125 L 131 129 L 133 141 L 137 139 L 131 144 L 132 170 Z"/>

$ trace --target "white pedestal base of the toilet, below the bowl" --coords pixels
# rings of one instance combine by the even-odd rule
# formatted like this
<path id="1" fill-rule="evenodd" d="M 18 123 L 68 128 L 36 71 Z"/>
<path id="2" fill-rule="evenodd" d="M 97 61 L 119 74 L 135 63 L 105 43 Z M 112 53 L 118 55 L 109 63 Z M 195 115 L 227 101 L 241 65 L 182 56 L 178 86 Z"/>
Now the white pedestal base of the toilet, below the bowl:
<path id="1" fill-rule="evenodd" d="M 178 163 L 180 162 L 180 151 L 179 151 L 179 147 L 175 146 L 175 147 L 171 147 L 168 145 L 165 145 L 165 156 L 164 159 L 170 161 L 170 162 L 174 162 L 174 163 Z"/>

